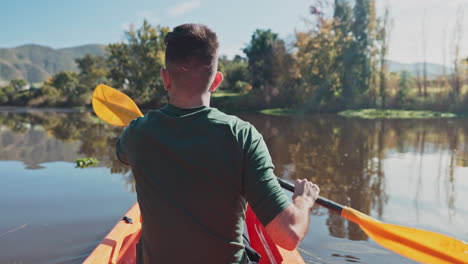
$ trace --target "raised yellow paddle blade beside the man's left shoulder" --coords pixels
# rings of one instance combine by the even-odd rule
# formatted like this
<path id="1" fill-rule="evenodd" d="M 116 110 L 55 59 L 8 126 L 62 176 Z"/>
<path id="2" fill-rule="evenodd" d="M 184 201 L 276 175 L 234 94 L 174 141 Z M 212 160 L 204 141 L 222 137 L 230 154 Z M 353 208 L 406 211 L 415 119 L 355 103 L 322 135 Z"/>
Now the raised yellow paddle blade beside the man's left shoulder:
<path id="1" fill-rule="evenodd" d="M 96 115 L 114 126 L 128 126 L 133 119 L 143 116 L 130 97 L 104 84 L 94 89 L 92 104 Z"/>

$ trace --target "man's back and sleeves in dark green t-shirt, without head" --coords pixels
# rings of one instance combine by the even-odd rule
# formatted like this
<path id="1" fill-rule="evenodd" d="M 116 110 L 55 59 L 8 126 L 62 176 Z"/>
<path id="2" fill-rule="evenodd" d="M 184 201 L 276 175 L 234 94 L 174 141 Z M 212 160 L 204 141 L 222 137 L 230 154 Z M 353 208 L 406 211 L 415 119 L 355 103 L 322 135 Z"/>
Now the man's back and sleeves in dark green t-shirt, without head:
<path id="1" fill-rule="evenodd" d="M 261 135 L 214 108 L 150 111 L 117 149 L 136 181 L 144 263 L 238 263 L 247 201 L 264 225 L 289 205 Z"/>

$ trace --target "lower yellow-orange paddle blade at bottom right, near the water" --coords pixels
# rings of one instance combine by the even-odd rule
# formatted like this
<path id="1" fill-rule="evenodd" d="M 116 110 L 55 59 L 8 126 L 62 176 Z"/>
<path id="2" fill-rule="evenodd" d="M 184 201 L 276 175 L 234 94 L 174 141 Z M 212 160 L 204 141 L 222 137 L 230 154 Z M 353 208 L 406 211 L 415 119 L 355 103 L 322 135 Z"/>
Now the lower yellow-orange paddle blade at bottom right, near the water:
<path id="1" fill-rule="evenodd" d="M 468 244 L 442 234 L 382 223 L 344 207 L 341 216 L 358 224 L 381 246 L 421 263 L 468 263 Z"/>

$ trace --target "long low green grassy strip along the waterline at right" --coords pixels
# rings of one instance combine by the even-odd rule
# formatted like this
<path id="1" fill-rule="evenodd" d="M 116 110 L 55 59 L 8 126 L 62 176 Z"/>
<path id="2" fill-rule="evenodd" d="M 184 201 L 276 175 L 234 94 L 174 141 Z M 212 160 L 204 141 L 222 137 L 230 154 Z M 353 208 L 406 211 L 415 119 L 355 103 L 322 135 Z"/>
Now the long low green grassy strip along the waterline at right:
<path id="1" fill-rule="evenodd" d="M 346 110 L 338 113 L 345 117 L 357 117 L 363 119 L 395 118 L 395 119 L 424 119 L 424 118 L 454 118 L 457 114 L 434 111 L 413 111 L 413 110 L 381 110 L 381 109 L 359 109 Z"/>

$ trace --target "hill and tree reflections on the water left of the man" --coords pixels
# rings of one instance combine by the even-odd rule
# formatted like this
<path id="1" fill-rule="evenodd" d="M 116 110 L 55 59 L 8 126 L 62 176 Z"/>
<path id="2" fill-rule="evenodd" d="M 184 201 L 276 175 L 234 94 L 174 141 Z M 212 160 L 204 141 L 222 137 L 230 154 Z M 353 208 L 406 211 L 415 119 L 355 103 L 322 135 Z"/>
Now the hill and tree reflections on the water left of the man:
<path id="1" fill-rule="evenodd" d="M 124 174 L 129 168 L 113 154 L 121 131 L 90 112 L 0 112 L 0 160 L 40 168 L 44 162 L 95 157 L 112 173 Z"/>

